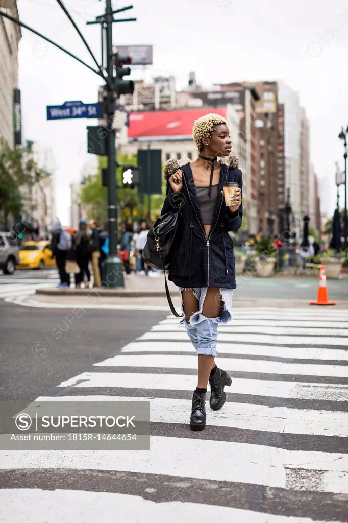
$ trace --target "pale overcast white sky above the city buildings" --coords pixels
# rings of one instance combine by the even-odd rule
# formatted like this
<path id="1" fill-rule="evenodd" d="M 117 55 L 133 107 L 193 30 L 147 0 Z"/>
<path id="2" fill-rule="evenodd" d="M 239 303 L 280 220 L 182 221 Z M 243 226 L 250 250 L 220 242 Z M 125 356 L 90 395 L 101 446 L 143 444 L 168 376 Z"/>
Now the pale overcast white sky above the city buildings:
<path id="1" fill-rule="evenodd" d="M 98 61 L 100 28 L 86 25 L 105 11 L 103 0 L 65 0 Z M 114 24 L 114 45 L 152 44 L 153 65 L 134 66 L 130 78 L 172 74 L 177 90 L 189 72 L 203 86 L 282 79 L 299 93 L 310 122 L 310 158 L 320 178 L 322 211 L 335 208 L 335 162 L 343 169 L 341 126 L 348 124 L 348 2 L 346 0 L 134 0 Z M 129 5 L 113 2 L 113 8 Z M 54 0 L 18 0 L 20 20 L 94 62 Z M 87 125 L 96 120 L 47 121 L 46 106 L 67 100 L 95 103 L 101 78 L 40 37 L 22 29 L 19 44 L 24 139 L 52 149 L 56 212 L 69 224 L 69 185 L 81 178 Z M 343 187 L 341 203 L 343 204 Z"/>

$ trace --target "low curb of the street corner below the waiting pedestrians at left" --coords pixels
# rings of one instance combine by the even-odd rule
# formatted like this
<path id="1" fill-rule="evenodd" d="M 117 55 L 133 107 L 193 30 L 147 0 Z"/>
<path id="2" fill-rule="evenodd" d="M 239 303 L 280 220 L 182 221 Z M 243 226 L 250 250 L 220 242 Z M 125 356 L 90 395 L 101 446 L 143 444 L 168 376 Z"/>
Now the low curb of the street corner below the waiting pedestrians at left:
<path id="1" fill-rule="evenodd" d="M 89 296 L 97 294 L 104 298 L 165 298 L 165 291 L 131 291 L 131 290 L 114 290 L 114 289 L 37 289 L 36 294 L 45 296 Z"/>

